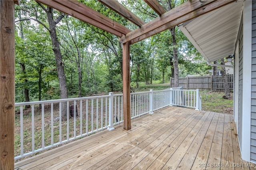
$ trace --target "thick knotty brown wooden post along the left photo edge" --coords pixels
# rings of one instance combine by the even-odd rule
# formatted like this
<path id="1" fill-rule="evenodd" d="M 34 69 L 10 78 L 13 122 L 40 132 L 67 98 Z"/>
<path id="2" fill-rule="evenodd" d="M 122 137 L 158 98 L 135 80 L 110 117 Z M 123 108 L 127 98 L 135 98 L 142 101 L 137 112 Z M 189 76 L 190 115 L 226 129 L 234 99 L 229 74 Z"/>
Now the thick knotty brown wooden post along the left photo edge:
<path id="1" fill-rule="evenodd" d="M 0 0 L 0 169 L 14 169 L 14 1 Z"/>

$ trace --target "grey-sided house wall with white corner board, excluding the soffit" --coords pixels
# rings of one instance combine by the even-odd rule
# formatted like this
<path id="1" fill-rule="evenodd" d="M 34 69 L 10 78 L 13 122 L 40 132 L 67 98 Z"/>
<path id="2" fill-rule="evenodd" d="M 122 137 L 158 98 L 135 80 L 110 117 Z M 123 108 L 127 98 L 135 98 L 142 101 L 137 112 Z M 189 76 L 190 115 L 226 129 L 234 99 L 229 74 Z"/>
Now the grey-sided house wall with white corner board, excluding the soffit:
<path id="1" fill-rule="evenodd" d="M 237 39 L 234 117 L 242 159 L 256 163 L 256 1 L 243 2 Z"/>

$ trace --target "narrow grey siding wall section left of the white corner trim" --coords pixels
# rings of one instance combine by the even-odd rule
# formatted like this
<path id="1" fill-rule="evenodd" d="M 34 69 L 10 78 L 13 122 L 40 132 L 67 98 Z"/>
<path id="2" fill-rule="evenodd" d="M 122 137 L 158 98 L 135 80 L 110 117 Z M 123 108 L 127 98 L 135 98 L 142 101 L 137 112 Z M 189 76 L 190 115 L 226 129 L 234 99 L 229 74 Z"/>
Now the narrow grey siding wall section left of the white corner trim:
<path id="1" fill-rule="evenodd" d="M 243 16 L 242 16 L 243 18 Z M 243 103 L 243 21 L 240 22 L 239 37 L 239 87 L 238 87 L 238 139 L 242 146 L 242 103 Z"/>

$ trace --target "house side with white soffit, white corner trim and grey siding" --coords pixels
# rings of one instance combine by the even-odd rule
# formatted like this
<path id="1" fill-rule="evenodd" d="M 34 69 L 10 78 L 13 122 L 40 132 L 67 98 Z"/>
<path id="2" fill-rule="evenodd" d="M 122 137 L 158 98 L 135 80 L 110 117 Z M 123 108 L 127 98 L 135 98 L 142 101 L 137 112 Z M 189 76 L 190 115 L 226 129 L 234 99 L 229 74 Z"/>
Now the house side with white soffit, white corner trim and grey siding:
<path id="1" fill-rule="evenodd" d="M 256 163 L 256 1 L 236 1 L 180 30 L 213 62 L 234 54 L 234 119 L 242 159 Z"/>

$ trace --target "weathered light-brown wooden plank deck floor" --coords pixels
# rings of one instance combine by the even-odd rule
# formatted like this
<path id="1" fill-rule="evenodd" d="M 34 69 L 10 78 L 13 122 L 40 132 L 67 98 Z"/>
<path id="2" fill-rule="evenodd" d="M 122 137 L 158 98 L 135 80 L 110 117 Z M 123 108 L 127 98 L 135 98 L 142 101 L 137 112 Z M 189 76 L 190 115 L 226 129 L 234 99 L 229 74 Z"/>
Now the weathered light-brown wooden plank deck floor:
<path id="1" fill-rule="evenodd" d="M 249 167 L 248 167 L 249 166 Z M 16 170 L 255 169 L 241 160 L 232 115 L 167 107 L 15 163 Z"/>

